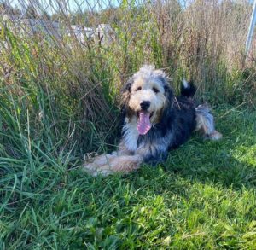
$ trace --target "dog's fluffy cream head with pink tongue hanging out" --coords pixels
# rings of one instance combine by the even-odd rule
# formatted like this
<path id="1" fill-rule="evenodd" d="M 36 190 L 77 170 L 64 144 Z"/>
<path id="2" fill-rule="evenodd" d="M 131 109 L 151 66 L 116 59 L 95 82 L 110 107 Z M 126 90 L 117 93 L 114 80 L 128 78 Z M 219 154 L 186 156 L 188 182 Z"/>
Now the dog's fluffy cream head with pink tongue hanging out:
<path id="1" fill-rule="evenodd" d="M 137 121 L 137 131 L 141 135 L 160 123 L 165 109 L 172 107 L 173 99 L 166 74 L 154 66 L 140 68 L 122 90 L 126 116 Z"/>

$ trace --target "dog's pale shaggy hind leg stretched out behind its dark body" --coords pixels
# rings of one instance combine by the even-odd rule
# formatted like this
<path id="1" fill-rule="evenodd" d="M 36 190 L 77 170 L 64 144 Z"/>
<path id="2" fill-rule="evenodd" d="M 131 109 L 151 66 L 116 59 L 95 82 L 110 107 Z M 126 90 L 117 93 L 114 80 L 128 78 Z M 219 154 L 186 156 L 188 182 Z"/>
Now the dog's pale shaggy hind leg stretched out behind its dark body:
<path id="1" fill-rule="evenodd" d="M 215 130 L 214 118 L 207 104 L 201 104 L 195 108 L 195 115 L 196 131 L 201 131 L 206 138 L 212 141 L 222 138 L 222 134 Z"/>

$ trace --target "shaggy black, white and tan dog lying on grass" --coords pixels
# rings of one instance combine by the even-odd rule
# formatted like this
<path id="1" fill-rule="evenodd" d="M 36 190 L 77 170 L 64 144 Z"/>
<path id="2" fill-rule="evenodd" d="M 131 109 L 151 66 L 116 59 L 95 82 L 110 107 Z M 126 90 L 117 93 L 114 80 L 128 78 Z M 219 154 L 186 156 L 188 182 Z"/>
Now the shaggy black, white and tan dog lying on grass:
<path id="1" fill-rule="evenodd" d="M 122 136 L 118 151 L 85 162 L 92 175 L 128 173 L 142 163 L 155 166 L 168 151 L 188 141 L 193 131 L 218 140 L 207 104 L 195 106 L 195 85 L 183 80 L 180 96 L 174 96 L 166 73 L 154 66 L 139 69 L 121 90 Z"/>

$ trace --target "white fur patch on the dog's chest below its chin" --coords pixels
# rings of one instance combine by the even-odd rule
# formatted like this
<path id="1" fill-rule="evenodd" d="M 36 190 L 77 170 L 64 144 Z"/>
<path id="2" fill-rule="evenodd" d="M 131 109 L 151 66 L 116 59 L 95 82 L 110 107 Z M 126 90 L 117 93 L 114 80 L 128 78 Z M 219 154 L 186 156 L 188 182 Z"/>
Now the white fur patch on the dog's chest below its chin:
<path id="1" fill-rule="evenodd" d="M 133 117 L 131 121 L 125 118 L 125 125 L 123 127 L 125 148 L 134 152 L 137 149 L 137 139 L 139 133 L 137 131 L 137 119 Z"/>

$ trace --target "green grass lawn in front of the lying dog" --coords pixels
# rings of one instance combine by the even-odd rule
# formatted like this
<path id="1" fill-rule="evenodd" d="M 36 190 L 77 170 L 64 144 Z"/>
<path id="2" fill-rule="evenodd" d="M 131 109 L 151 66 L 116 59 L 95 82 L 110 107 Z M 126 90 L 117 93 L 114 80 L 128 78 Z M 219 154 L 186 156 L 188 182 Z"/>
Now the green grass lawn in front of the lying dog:
<path id="1" fill-rule="evenodd" d="M 0 248 L 255 249 L 256 113 L 215 115 L 221 142 L 195 135 L 126 176 L 90 177 L 37 145 L 1 157 Z"/>

